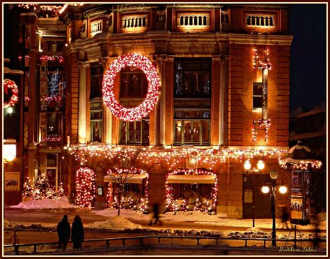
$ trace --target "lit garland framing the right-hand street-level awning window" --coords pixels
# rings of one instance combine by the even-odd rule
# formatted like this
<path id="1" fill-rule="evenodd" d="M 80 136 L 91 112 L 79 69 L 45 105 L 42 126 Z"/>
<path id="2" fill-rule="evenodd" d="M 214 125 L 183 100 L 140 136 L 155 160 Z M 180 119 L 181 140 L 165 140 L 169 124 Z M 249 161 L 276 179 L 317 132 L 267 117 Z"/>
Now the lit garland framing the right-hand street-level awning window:
<path id="1" fill-rule="evenodd" d="M 216 210 L 217 208 L 217 193 L 218 193 L 218 179 L 217 174 L 212 170 L 207 169 L 176 169 L 172 172 L 168 172 L 166 174 L 166 181 L 165 181 L 165 190 L 166 190 L 166 209 L 169 211 L 174 210 L 187 210 L 187 201 L 184 201 L 182 205 L 179 207 L 177 201 L 175 201 L 173 197 L 173 186 L 172 184 L 168 183 L 168 176 L 171 175 L 212 175 L 214 176 L 214 184 L 212 187 L 211 198 L 212 203 L 205 202 L 206 206 L 202 206 L 201 201 L 197 202 L 194 206 L 193 210 L 200 210 L 205 212 L 211 212 Z"/>

